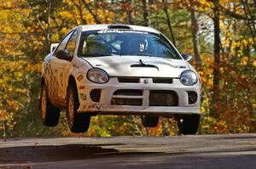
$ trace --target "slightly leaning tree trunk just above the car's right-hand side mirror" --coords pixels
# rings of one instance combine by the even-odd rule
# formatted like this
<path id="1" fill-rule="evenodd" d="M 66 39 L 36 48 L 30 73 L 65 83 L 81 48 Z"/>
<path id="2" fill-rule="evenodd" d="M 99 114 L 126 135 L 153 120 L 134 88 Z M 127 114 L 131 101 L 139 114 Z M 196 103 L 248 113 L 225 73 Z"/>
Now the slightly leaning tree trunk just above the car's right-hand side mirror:
<path id="1" fill-rule="evenodd" d="M 196 67 L 200 69 L 201 58 L 199 53 L 198 24 L 195 18 L 195 8 L 193 7 L 192 3 L 190 3 L 190 5 L 191 5 L 191 9 L 190 9 L 191 33 L 192 33 L 193 48 L 194 48 L 194 54 L 195 54 L 195 62 L 196 62 Z"/>

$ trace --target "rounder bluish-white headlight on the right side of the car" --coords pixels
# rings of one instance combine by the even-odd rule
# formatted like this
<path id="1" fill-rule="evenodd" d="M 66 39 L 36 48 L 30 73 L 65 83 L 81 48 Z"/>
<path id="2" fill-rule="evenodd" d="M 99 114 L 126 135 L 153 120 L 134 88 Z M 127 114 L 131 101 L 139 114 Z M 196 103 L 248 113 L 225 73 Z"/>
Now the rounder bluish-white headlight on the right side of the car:
<path id="1" fill-rule="evenodd" d="M 186 86 L 195 85 L 197 82 L 197 76 L 194 71 L 192 70 L 184 70 L 180 75 L 180 82 Z"/>

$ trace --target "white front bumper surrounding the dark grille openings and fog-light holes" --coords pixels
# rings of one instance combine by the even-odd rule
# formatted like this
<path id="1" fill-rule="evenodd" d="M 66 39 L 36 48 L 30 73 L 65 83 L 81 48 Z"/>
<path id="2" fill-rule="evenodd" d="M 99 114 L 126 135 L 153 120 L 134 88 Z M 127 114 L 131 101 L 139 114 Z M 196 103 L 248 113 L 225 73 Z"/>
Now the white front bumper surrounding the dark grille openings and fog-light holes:
<path id="1" fill-rule="evenodd" d="M 145 83 L 147 81 L 147 83 Z M 183 115 L 200 114 L 201 84 L 198 82 L 192 87 L 184 86 L 179 79 L 173 78 L 171 84 L 154 83 L 152 78 L 140 78 L 137 83 L 119 82 L 117 77 L 110 78 L 106 84 L 96 84 L 84 80 L 77 82 L 79 90 L 79 112 L 97 112 L 108 115 Z M 101 89 L 99 102 L 93 102 L 90 91 Z M 142 90 L 143 94 L 137 98 L 142 99 L 142 105 L 116 105 L 112 104 L 113 93 L 120 89 Z M 173 91 L 177 94 L 176 106 L 150 106 L 150 91 Z M 197 93 L 195 103 L 189 104 L 189 93 Z M 125 96 L 122 96 L 125 97 Z M 127 98 L 131 96 L 127 96 Z M 134 98 L 134 97 L 133 97 Z"/>

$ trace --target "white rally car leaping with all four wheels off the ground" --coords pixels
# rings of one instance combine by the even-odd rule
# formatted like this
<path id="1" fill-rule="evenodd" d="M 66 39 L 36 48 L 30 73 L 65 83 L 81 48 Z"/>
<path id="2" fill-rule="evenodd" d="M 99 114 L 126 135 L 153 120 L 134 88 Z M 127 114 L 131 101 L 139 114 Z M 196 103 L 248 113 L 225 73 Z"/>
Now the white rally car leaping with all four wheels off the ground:
<path id="1" fill-rule="evenodd" d="M 137 25 L 79 25 L 53 44 L 44 59 L 40 108 L 54 127 L 67 111 L 72 132 L 86 132 L 92 115 L 141 115 L 144 127 L 159 116 L 195 134 L 201 81 L 162 33 Z"/>

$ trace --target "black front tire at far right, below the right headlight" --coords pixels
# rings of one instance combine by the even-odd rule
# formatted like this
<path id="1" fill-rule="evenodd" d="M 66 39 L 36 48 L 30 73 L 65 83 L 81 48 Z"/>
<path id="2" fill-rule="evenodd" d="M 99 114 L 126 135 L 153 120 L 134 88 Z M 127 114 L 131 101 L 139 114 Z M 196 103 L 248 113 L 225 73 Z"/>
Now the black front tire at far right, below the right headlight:
<path id="1" fill-rule="evenodd" d="M 195 134 L 198 131 L 201 115 L 183 115 L 177 120 L 177 127 L 180 134 Z"/>

